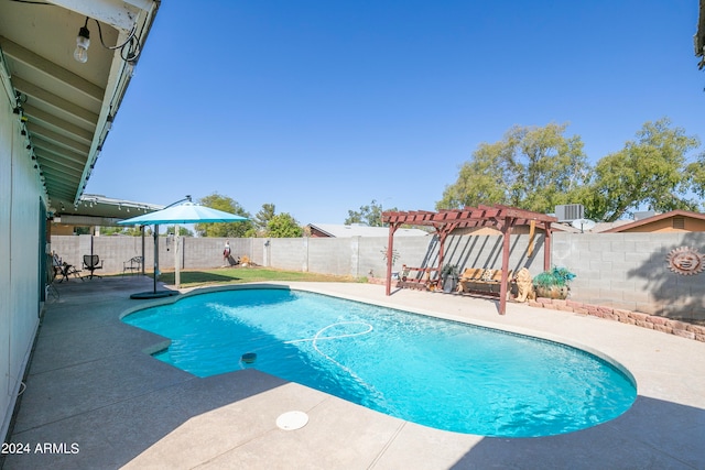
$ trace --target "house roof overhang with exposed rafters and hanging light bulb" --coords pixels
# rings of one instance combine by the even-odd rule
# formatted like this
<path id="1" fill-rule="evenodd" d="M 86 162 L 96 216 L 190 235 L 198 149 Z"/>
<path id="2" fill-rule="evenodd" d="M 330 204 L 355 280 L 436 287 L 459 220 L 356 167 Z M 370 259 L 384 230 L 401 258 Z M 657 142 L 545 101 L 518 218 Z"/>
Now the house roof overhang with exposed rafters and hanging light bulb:
<path id="1" fill-rule="evenodd" d="M 0 92 L 7 95 L 0 99 L 9 99 L 17 114 L 50 212 L 82 204 L 159 6 L 159 0 L 0 2 Z M 88 61 L 79 63 L 74 50 L 86 24 Z"/>

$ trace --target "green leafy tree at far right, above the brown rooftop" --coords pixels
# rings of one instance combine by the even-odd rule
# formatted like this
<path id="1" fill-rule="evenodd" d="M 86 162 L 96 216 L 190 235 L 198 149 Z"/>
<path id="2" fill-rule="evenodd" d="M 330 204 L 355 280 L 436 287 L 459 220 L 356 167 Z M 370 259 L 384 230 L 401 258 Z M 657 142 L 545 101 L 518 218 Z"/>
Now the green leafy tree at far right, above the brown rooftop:
<path id="1" fill-rule="evenodd" d="M 673 128 L 668 118 L 647 122 L 634 141 L 603 157 L 593 182 L 582 192 L 586 217 L 615 221 L 631 210 L 697 210 L 705 193 L 703 156 L 690 163 L 686 153 L 699 145 L 697 138 Z"/>

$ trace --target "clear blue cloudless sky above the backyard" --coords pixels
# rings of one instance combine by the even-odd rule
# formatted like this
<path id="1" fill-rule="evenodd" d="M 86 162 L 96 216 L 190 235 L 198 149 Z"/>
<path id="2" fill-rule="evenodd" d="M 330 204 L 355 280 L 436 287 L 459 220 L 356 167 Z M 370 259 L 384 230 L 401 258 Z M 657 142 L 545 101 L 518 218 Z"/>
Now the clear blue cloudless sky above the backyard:
<path id="1" fill-rule="evenodd" d="M 695 0 L 165 0 L 86 193 L 433 210 L 481 142 L 570 123 L 592 163 L 702 133 Z M 698 150 L 695 153 L 698 153 Z M 692 157 L 695 156 L 695 153 Z"/>

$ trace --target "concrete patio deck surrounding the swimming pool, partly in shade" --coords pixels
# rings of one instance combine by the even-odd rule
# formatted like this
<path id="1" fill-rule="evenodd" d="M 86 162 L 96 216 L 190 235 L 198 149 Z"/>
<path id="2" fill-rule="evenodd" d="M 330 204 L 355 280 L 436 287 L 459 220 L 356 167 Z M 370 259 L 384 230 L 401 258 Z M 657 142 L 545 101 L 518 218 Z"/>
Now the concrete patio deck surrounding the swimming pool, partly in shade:
<path id="1" fill-rule="evenodd" d="M 636 378 L 622 416 L 577 433 L 488 438 L 393 418 L 249 369 L 198 379 L 152 359 L 164 338 L 124 325 L 154 304 L 141 276 L 58 285 L 46 304 L 3 469 L 705 469 L 705 343 L 615 321 L 371 284 L 292 283 L 599 351 Z M 308 414 L 299 430 L 276 417 Z M 44 451 L 42 451 L 44 450 Z"/>

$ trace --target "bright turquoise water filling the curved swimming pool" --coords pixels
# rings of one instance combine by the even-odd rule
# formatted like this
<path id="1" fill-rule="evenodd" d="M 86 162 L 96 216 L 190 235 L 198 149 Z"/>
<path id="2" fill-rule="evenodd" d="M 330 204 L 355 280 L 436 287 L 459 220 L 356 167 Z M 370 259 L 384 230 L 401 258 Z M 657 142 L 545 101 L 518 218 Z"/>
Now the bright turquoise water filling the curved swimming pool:
<path id="1" fill-rule="evenodd" d="M 256 368 L 457 433 L 570 433 L 619 416 L 637 394 L 620 370 L 572 347 L 296 291 L 195 295 L 123 321 L 170 338 L 154 356 L 195 375 Z"/>

